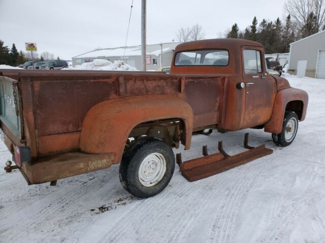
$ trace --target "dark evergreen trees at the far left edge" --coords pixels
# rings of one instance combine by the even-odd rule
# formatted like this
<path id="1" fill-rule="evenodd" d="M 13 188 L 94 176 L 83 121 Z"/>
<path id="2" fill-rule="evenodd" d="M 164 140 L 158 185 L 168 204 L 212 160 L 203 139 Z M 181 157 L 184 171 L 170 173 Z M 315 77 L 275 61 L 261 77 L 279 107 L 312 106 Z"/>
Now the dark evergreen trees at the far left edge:
<path id="1" fill-rule="evenodd" d="M 15 44 L 12 44 L 9 50 L 8 46 L 4 46 L 4 42 L 0 40 L 0 64 L 18 66 L 25 61 L 23 52 L 18 52 Z"/>

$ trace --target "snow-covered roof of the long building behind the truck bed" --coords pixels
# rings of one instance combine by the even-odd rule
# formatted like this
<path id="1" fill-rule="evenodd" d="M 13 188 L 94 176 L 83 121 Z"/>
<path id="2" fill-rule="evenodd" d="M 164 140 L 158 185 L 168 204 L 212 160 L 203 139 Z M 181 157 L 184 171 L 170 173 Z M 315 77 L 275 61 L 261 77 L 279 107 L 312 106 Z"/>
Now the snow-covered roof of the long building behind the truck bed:
<path id="1" fill-rule="evenodd" d="M 179 43 L 162 43 L 163 53 L 175 50 Z M 160 44 L 147 45 L 147 55 L 159 56 L 161 52 Z M 73 58 L 103 58 L 103 57 L 118 57 L 118 56 L 141 56 L 141 46 L 134 47 L 117 47 L 93 50 L 80 54 Z"/>

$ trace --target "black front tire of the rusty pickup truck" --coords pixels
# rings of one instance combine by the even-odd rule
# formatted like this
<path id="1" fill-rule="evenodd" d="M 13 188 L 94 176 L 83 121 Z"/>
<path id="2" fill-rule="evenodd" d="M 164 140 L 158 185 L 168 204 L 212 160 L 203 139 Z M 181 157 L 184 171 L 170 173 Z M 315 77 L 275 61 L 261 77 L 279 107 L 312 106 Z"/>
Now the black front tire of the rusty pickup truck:
<path id="1" fill-rule="evenodd" d="M 290 121 L 290 124 L 288 125 Z M 287 129 L 290 128 L 290 125 L 294 123 L 295 124 L 295 127 L 294 127 L 294 131 L 287 131 Z M 298 124 L 299 124 L 299 121 L 298 121 L 298 116 L 297 114 L 294 112 L 294 111 L 286 111 L 284 113 L 284 119 L 283 119 L 283 125 L 282 125 L 282 132 L 279 133 L 279 134 L 275 134 L 275 133 L 272 133 L 272 139 L 273 139 L 273 142 L 278 145 L 278 146 L 282 146 L 282 147 L 285 147 L 285 146 L 288 146 L 290 145 L 296 138 L 296 135 L 297 135 L 297 131 L 298 131 Z M 293 126 L 291 126 L 290 129 L 293 129 Z M 286 132 L 287 133 L 290 133 L 291 136 L 289 137 L 285 137 L 286 135 Z"/>

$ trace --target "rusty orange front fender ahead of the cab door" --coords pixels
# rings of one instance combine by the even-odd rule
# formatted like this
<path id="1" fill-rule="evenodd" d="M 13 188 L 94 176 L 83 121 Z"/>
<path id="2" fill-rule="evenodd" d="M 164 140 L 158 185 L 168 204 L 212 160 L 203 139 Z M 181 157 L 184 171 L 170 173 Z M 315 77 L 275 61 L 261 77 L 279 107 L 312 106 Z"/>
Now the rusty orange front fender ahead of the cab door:
<path id="1" fill-rule="evenodd" d="M 264 125 L 265 132 L 276 134 L 282 132 L 285 108 L 290 101 L 302 101 L 303 109 L 301 111 L 300 121 L 305 119 L 308 106 L 307 92 L 295 88 L 284 89 L 279 91 L 275 96 L 271 119 Z"/>

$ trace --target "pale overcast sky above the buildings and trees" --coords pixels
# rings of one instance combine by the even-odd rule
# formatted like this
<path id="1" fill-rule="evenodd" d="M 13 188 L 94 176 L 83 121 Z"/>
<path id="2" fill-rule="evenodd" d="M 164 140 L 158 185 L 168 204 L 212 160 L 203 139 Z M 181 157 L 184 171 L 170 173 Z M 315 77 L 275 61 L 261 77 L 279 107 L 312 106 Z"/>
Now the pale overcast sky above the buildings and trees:
<path id="1" fill-rule="evenodd" d="M 240 29 L 254 16 L 283 19 L 285 0 L 147 0 L 147 44 L 171 42 L 181 27 L 199 23 L 216 38 L 235 22 Z M 0 0 L 0 39 L 24 50 L 37 43 L 61 59 L 125 44 L 132 0 Z M 127 46 L 141 44 L 141 0 L 134 0 Z"/>

